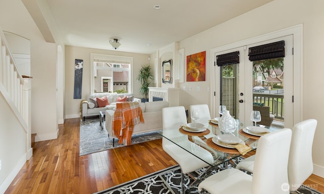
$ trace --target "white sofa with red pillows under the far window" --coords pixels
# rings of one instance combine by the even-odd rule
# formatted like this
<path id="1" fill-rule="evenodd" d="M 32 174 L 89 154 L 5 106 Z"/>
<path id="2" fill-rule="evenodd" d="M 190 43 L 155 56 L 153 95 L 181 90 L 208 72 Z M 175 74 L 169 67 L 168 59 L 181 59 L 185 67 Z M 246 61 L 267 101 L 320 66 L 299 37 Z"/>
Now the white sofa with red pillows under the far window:
<path id="1" fill-rule="evenodd" d="M 132 93 L 117 94 L 116 92 L 114 92 L 114 93 L 104 92 L 104 93 L 89 94 L 89 95 L 87 95 L 86 100 L 82 101 L 80 116 L 82 117 L 83 120 L 85 120 L 86 117 L 99 115 L 100 111 L 114 110 L 116 108 L 117 97 L 119 96 L 120 98 L 123 98 L 125 95 L 133 96 Z M 107 99 L 108 99 L 110 105 L 107 105 L 105 107 L 92 108 L 92 107 L 94 107 L 94 104 L 90 101 L 90 99 L 103 98 L 104 96 L 107 96 Z M 140 99 L 136 99 L 136 98 L 133 99 L 133 102 L 134 101 L 141 102 Z"/>

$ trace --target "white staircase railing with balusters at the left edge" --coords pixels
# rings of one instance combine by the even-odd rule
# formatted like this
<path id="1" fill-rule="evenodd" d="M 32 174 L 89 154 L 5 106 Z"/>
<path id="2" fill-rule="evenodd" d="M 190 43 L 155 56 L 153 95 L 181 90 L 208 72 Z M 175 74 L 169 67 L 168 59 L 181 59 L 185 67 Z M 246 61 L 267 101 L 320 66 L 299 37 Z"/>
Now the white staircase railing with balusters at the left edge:
<path id="1" fill-rule="evenodd" d="M 28 126 L 26 124 L 28 121 L 26 116 L 24 116 L 28 110 L 25 110 L 26 106 L 23 105 L 23 89 L 24 79 L 19 73 L 6 37 L 0 29 L 0 92 L 28 133 Z"/>

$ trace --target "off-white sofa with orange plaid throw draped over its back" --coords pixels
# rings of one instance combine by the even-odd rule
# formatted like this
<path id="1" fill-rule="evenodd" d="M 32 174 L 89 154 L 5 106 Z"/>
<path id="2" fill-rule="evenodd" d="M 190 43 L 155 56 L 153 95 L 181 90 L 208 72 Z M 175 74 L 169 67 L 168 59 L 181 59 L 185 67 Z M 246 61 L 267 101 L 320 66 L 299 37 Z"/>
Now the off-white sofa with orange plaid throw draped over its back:
<path id="1" fill-rule="evenodd" d="M 162 109 L 169 107 L 167 101 L 140 103 L 144 123 L 134 125 L 133 135 L 162 129 Z M 105 126 L 110 138 L 116 138 L 112 130 L 114 110 L 106 110 Z"/>

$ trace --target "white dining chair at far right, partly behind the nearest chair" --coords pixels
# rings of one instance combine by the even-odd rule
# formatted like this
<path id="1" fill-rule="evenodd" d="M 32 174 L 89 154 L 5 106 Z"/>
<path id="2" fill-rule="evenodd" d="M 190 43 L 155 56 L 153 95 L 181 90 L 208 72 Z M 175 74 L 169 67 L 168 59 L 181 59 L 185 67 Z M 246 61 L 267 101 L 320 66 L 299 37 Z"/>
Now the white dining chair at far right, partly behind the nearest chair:
<path id="1" fill-rule="evenodd" d="M 295 191 L 313 173 L 312 145 L 317 121 L 308 119 L 294 125 L 289 152 L 288 176 L 290 190 Z M 255 156 L 237 164 L 237 169 L 253 173 Z"/>

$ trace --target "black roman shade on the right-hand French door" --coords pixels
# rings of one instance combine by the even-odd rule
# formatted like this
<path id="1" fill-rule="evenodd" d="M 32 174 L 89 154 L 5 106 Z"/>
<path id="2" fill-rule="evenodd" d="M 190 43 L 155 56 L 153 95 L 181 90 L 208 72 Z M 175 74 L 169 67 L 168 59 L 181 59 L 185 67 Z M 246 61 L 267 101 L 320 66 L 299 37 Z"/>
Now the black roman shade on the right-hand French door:
<path id="1" fill-rule="evenodd" d="M 258 61 L 285 57 L 285 41 L 272 42 L 249 48 L 249 60 Z"/>

